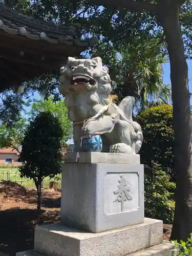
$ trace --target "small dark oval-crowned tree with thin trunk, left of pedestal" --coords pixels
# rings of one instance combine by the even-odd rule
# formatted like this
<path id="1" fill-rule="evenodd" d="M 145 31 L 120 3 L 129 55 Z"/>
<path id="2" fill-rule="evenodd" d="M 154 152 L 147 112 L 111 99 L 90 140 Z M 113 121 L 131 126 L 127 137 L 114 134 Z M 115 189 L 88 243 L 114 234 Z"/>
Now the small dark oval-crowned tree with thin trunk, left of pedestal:
<path id="1" fill-rule="evenodd" d="M 27 127 L 20 154 L 23 165 L 19 167 L 19 171 L 21 177 L 34 180 L 37 187 L 38 209 L 40 209 L 42 180 L 60 173 L 62 137 L 60 123 L 51 113 L 39 113 Z"/>

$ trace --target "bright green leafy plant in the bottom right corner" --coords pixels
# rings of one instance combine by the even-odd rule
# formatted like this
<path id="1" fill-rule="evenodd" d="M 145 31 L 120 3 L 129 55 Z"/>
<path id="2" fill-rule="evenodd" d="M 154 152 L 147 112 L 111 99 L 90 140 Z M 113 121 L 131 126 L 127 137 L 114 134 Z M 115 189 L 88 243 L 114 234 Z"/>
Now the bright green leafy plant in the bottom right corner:
<path id="1" fill-rule="evenodd" d="M 187 242 L 183 242 L 182 240 L 180 243 L 177 241 L 172 241 L 172 243 L 176 246 L 173 250 L 176 252 L 178 256 L 191 256 L 192 255 L 192 233 L 190 234 L 190 238 L 188 238 Z"/>

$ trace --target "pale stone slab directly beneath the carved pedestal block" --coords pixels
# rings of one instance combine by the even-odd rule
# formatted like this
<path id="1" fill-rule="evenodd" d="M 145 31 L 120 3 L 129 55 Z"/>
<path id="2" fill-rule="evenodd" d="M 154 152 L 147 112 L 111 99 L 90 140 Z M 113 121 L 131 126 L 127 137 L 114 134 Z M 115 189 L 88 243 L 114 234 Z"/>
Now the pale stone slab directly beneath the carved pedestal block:
<path id="1" fill-rule="evenodd" d="M 50 256 L 125 256 L 162 242 L 162 221 L 145 218 L 142 224 L 99 233 L 61 224 L 37 226 L 34 250 Z"/>

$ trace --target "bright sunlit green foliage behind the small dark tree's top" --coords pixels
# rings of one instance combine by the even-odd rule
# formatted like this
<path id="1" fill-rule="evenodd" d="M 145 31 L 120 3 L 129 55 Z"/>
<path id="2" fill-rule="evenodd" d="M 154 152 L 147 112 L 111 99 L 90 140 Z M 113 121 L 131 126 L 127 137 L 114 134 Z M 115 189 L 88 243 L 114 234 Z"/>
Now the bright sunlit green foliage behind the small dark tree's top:
<path id="1" fill-rule="evenodd" d="M 60 100 L 54 102 L 53 97 L 49 97 L 47 100 L 35 100 L 32 104 L 30 119 L 33 120 L 41 112 L 51 113 L 58 119 L 63 132 L 61 145 L 65 146 L 69 139 L 69 131 L 71 129 L 71 123 L 68 119 L 68 109 L 65 101 Z"/>

